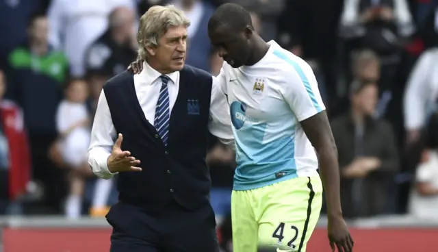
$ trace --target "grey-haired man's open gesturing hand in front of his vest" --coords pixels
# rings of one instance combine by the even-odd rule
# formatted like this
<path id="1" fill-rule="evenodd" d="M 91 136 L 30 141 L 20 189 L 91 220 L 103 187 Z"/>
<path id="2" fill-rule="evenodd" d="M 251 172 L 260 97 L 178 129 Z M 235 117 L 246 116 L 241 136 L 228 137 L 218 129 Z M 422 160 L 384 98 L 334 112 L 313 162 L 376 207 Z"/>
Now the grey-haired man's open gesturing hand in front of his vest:
<path id="1" fill-rule="evenodd" d="M 136 160 L 136 157 L 131 157 L 129 151 L 122 151 L 120 148 L 122 141 L 122 134 L 118 134 L 114 147 L 112 147 L 111 155 L 107 159 L 108 170 L 110 170 L 111 173 L 122 171 L 142 171 L 142 168 L 137 167 L 138 164 L 140 164 L 140 160 Z"/>

